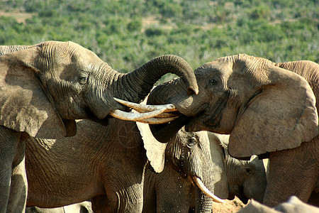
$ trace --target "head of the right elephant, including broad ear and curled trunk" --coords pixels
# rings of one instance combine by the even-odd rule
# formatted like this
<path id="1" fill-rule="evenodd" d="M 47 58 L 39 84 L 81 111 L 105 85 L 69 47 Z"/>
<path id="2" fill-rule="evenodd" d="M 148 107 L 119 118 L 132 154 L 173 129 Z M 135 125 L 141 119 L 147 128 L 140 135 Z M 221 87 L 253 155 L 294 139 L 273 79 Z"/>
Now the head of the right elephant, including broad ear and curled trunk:
<path id="1" fill-rule="evenodd" d="M 318 135 L 315 96 L 300 75 L 245 54 L 218 58 L 194 72 L 196 96 L 187 96 L 184 82 L 172 80 L 153 89 L 147 103 L 174 104 L 179 119 L 186 117 L 186 131 L 230 133 L 233 157 L 296 148 Z M 174 129 L 177 120 L 152 126 L 152 133 L 165 141 L 162 129 Z"/>

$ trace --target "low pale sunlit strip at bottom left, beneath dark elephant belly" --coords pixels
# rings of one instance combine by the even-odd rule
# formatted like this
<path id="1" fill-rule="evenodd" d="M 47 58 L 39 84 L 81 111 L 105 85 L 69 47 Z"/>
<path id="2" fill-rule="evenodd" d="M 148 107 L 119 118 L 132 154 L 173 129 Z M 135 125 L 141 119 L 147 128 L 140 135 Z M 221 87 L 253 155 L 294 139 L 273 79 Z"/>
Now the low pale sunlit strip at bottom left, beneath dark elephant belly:
<path id="1" fill-rule="evenodd" d="M 70 204 L 65 207 L 57 207 L 52 209 L 40 207 L 27 207 L 26 213 L 93 213 L 91 202 L 84 201 L 76 204 Z"/>

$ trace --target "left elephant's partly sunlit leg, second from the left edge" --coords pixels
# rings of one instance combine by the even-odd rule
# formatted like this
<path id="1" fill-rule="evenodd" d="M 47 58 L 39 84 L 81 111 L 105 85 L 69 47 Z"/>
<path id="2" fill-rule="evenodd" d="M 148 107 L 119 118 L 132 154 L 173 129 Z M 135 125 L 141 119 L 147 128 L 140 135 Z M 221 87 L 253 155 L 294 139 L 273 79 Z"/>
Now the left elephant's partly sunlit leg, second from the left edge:
<path id="1" fill-rule="evenodd" d="M 25 167 L 26 142 L 20 141 L 13 158 L 11 174 L 11 190 L 7 213 L 26 212 L 26 198 L 28 193 L 28 182 Z"/>

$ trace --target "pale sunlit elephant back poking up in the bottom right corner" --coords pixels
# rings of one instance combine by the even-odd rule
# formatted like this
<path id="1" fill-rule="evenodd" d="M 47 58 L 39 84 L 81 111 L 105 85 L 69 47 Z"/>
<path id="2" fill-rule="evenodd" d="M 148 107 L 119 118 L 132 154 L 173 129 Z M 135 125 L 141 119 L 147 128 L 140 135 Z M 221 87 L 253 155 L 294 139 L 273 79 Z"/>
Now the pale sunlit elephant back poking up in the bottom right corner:
<path id="1" fill-rule="evenodd" d="M 317 213 L 318 207 L 306 204 L 298 199 L 296 196 L 291 196 L 289 200 L 277 205 L 274 208 L 269 208 L 259 202 L 252 200 L 245 208 L 240 209 L 238 213 Z"/>

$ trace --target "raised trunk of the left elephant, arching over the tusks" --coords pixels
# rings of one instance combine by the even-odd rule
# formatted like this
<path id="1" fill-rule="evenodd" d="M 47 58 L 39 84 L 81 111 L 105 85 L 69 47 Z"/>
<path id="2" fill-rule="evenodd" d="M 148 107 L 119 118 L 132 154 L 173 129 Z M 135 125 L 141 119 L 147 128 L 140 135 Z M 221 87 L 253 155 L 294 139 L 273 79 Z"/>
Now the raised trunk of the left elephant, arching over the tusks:
<path id="1" fill-rule="evenodd" d="M 178 75 L 184 80 L 187 94 L 198 94 L 196 77 L 189 63 L 177 55 L 162 55 L 121 76 L 115 96 L 130 102 L 141 102 L 157 80 L 167 73 Z"/>

